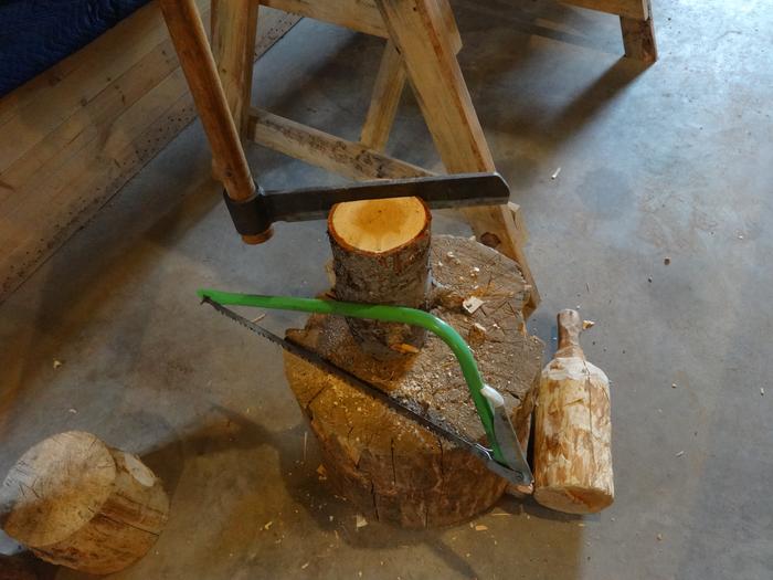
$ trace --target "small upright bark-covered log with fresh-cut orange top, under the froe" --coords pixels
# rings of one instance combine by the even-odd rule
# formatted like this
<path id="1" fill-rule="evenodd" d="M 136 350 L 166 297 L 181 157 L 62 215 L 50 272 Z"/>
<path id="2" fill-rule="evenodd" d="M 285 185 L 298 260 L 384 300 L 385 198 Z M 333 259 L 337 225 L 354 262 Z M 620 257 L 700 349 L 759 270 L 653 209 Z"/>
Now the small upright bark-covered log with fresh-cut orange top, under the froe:
<path id="1" fill-rule="evenodd" d="M 329 213 L 339 299 L 425 308 L 432 214 L 419 198 L 339 203 Z M 347 319 L 366 352 L 388 359 L 420 348 L 426 333 L 409 325 Z"/>

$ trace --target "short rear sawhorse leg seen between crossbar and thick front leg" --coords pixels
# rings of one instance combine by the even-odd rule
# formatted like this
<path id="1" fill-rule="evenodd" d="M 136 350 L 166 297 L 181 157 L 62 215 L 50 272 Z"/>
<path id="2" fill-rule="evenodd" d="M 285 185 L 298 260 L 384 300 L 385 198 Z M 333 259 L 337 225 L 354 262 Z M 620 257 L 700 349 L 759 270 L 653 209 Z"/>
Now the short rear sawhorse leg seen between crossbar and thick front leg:
<path id="1" fill-rule="evenodd" d="M 394 43 L 388 40 L 379 65 L 379 74 L 375 76 L 368 116 L 360 134 L 360 143 L 366 147 L 383 151 L 386 146 L 405 78 L 403 57 L 400 56 Z"/>

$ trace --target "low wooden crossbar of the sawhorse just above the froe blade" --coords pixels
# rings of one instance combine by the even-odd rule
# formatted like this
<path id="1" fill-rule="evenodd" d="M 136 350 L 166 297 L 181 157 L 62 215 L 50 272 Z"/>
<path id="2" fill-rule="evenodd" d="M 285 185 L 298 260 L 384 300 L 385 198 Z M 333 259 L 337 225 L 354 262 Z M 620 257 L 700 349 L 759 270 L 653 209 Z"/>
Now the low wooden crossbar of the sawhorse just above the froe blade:
<path id="1" fill-rule="evenodd" d="M 266 110 L 252 110 L 250 135 L 258 145 L 351 179 L 400 179 L 432 175 L 426 169 L 393 159 L 361 144 L 340 139 Z"/>

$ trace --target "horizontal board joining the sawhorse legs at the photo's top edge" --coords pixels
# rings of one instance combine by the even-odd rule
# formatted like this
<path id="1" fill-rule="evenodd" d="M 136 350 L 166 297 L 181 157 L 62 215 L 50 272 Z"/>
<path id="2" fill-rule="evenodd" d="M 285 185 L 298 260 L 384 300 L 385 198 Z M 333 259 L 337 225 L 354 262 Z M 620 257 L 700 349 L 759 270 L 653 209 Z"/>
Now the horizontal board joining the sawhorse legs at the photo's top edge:
<path id="1" fill-rule="evenodd" d="M 388 38 L 384 22 L 373 0 L 260 0 L 285 12 L 330 22 L 339 27 Z"/>

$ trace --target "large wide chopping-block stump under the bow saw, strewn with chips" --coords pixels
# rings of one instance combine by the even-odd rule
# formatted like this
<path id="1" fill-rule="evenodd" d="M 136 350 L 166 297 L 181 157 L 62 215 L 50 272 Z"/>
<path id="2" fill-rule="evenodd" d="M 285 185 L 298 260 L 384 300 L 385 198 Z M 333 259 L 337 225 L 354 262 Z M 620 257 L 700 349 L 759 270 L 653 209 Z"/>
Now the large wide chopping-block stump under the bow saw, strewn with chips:
<path id="1" fill-rule="evenodd" d="M 523 278 L 508 257 L 460 238 L 433 236 L 431 263 L 432 312 L 472 338 L 486 381 L 504 394 L 526 441 L 543 345 L 526 334 Z M 470 296 L 483 300 L 474 314 L 463 309 Z M 338 317 L 311 316 L 304 329 L 287 335 L 391 396 L 412 401 L 426 416 L 485 441 L 459 366 L 434 335 L 427 335 L 417 354 L 391 360 L 363 352 Z M 501 496 L 504 479 L 383 403 L 287 354 L 285 372 L 317 436 L 330 482 L 367 517 L 414 528 L 452 525 Z"/>

